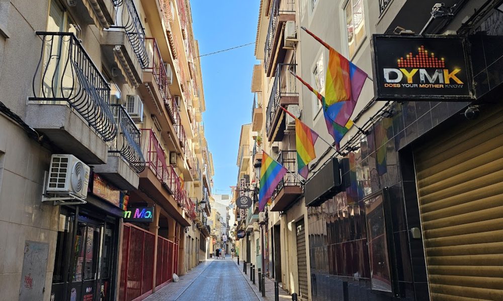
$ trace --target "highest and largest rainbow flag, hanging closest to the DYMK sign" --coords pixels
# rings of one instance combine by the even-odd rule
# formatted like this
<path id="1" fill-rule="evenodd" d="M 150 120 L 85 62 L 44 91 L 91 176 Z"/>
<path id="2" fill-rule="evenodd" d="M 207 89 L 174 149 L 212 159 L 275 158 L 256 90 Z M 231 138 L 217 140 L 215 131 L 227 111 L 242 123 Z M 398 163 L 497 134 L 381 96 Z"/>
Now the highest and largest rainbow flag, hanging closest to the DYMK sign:
<path id="1" fill-rule="evenodd" d="M 328 50 L 323 110 L 330 120 L 345 127 L 368 75 L 333 48 Z"/>

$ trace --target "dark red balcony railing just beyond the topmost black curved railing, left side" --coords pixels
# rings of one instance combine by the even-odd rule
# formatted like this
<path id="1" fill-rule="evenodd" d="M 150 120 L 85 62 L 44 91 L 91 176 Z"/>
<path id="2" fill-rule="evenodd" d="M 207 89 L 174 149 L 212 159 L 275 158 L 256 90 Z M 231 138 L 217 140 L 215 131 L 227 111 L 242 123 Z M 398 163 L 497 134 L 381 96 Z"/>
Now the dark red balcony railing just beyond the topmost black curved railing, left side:
<path id="1" fill-rule="evenodd" d="M 154 38 L 146 38 L 146 43 L 151 46 L 149 47 L 151 51 L 148 53 L 149 64 L 145 68 L 145 71 L 152 72 L 154 80 L 159 87 L 161 97 L 164 100 L 164 104 L 169 104 L 172 95 L 167 78 L 167 71 L 160 55 L 157 41 Z"/>

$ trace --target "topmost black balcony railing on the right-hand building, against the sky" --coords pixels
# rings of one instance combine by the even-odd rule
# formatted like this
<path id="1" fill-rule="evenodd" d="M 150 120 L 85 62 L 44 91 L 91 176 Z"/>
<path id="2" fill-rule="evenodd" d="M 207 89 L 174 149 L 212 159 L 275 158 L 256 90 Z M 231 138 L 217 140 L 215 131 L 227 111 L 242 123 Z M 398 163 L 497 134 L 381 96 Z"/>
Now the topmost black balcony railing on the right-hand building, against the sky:
<path id="1" fill-rule="evenodd" d="M 264 67 L 267 70 L 271 54 L 275 53 L 274 47 L 274 33 L 279 23 L 279 15 L 281 14 L 295 14 L 295 0 L 274 0 L 271 7 L 271 14 L 269 15 L 269 28 L 267 30 L 266 46 L 264 49 Z"/>

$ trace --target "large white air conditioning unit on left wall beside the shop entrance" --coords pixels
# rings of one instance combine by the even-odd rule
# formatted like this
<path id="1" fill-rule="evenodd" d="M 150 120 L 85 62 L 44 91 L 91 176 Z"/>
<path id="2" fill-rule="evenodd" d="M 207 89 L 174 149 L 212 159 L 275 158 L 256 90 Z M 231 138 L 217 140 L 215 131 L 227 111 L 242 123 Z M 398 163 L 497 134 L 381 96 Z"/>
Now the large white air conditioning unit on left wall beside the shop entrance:
<path id="1" fill-rule="evenodd" d="M 84 201 L 88 195 L 89 166 L 72 155 L 52 155 L 45 195 Z"/>

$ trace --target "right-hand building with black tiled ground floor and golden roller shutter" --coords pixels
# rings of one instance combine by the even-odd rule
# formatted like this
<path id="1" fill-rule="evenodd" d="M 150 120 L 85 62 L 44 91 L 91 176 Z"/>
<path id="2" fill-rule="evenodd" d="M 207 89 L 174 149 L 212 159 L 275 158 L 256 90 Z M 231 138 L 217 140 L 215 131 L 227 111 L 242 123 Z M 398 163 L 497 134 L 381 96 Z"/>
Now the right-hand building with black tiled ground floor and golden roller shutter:
<path id="1" fill-rule="evenodd" d="M 297 171 L 287 155 L 295 154 L 294 128 L 279 106 L 333 141 L 318 99 L 290 73 L 325 94 L 328 49 L 301 27 L 369 75 L 339 153 L 318 139 L 305 183 L 287 174 L 266 208 L 269 277 L 310 300 L 503 296 L 495 272 L 501 250 L 493 249 L 502 218 L 503 53 L 493 49 L 502 11 L 500 2 L 482 0 L 261 1 L 262 66 L 252 91 L 262 110 L 253 110 L 263 114 L 264 151 L 289 171 Z M 387 58 L 396 70 L 447 75 L 420 90 L 407 86 L 420 76 L 403 77 L 390 87 L 407 89 L 383 95 L 386 80 L 400 82 L 383 73 Z M 451 87 L 444 84 L 453 70 L 461 86 L 441 89 Z"/>

